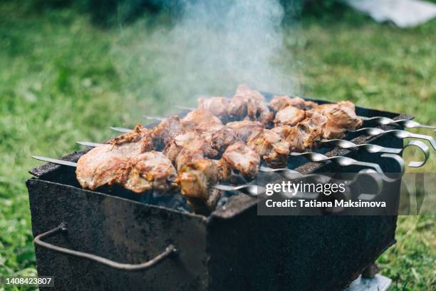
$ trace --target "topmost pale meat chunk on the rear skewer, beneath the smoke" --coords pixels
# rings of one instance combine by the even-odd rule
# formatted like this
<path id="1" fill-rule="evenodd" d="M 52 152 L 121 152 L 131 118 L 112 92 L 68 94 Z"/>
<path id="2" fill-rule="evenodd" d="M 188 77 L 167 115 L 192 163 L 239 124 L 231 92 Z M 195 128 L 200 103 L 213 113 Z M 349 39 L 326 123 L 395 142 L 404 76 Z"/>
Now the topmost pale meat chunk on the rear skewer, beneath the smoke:
<path id="1" fill-rule="evenodd" d="M 264 126 L 270 126 L 274 118 L 274 113 L 266 106 L 264 96 L 245 84 L 238 86 L 236 94 L 230 100 L 227 113 L 240 120 L 260 121 Z"/>

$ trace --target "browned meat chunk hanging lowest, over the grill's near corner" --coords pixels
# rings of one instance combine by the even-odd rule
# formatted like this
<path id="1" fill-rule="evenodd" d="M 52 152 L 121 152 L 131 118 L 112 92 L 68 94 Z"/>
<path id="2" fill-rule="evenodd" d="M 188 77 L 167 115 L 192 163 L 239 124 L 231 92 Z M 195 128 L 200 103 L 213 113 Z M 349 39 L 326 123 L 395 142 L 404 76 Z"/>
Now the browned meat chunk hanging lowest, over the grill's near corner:
<path id="1" fill-rule="evenodd" d="M 200 214 L 210 213 L 217 205 L 221 192 L 210 186 L 218 181 L 217 164 L 207 159 L 187 163 L 177 175 L 180 192 L 194 212 Z"/>

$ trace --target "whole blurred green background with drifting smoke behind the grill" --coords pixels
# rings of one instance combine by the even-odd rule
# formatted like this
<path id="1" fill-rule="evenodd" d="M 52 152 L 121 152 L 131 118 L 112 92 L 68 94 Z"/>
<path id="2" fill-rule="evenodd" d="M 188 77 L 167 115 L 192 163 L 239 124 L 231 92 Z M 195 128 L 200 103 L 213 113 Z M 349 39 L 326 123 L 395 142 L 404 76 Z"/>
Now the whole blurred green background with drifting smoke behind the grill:
<path id="1" fill-rule="evenodd" d="M 343 1 L 217 2 L 0 2 L 0 276 L 36 274 L 29 155 L 71 153 L 145 113 L 246 82 L 435 125 L 436 20 L 400 29 Z M 419 170 L 435 173 L 434 154 Z M 435 233 L 434 216 L 399 218 L 378 260 L 392 290 L 436 289 Z"/>

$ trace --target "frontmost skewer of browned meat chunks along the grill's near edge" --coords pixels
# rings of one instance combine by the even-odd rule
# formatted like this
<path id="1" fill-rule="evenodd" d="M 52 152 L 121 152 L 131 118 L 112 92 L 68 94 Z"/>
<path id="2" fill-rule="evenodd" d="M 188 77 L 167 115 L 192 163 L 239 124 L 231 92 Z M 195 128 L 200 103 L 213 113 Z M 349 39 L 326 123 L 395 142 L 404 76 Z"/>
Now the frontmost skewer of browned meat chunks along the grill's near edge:
<path id="1" fill-rule="evenodd" d="M 155 131 L 160 128 L 155 128 Z M 144 136 L 144 133 L 149 133 Z M 101 185 L 117 183 L 137 193 L 146 190 L 170 190 L 177 183 L 182 195 L 197 213 L 214 209 L 220 190 L 238 190 L 247 187 L 255 191 L 256 185 L 232 187 L 217 184 L 227 180 L 229 172 L 236 169 L 245 176 L 253 177 L 259 168 L 259 155 L 241 141 L 224 151 L 219 163 L 204 158 L 213 149 L 199 133 L 188 131 L 181 134 L 181 143 L 172 143 L 165 148 L 167 154 L 178 152 L 176 158 L 179 173 L 171 160 L 160 152 L 150 150 L 151 131 L 137 126 L 133 133 L 113 138 L 108 144 L 100 145 L 78 160 L 76 175 L 83 188 L 91 190 Z M 194 141 L 189 145 L 183 143 Z M 158 143 L 158 142 L 157 142 Z M 144 152 L 145 150 L 145 152 Z M 369 165 L 369 164 L 368 164 Z M 177 178 L 176 178 L 177 175 Z M 172 183 L 175 182 L 175 183 Z"/>

